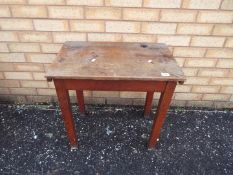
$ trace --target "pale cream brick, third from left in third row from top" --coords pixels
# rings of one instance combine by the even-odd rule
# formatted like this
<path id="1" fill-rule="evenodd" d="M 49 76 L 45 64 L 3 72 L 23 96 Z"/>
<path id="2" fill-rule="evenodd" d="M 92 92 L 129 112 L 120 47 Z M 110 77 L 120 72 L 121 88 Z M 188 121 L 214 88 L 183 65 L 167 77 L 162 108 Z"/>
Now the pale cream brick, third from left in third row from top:
<path id="1" fill-rule="evenodd" d="M 71 31 L 81 31 L 81 32 L 104 32 L 104 22 L 103 21 L 93 21 L 93 20 L 72 20 L 70 21 Z"/>

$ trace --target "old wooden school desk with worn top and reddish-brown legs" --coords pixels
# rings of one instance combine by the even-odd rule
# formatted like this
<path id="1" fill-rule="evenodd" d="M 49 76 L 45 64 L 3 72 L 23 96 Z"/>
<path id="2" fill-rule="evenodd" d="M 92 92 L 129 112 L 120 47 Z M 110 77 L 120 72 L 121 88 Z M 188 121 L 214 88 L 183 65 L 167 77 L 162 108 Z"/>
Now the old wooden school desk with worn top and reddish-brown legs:
<path id="1" fill-rule="evenodd" d="M 46 78 L 54 81 L 71 148 L 78 143 L 68 90 L 76 90 L 81 113 L 85 112 L 83 90 L 147 92 L 144 116 L 151 112 L 154 92 L 161 92 L 148 142 L 153 148 L 176 84 L 185 80 L 164 44 L 108 42 L 66 42 L 47 68 Z"/>

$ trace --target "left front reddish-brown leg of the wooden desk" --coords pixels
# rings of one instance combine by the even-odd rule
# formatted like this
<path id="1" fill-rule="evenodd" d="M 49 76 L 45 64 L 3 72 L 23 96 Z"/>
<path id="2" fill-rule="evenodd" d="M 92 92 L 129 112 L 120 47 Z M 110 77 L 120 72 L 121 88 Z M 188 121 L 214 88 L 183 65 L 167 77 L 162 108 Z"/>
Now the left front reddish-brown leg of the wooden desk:
<path id="1" fill-rule="evenodd" d="M 75 149 L 78 147 L 78 142 L 70 106 L 69 93 L 68 90 L 64 87 L 64 80 L 54 80 L 54 84 L 57 91 L 57 97 L 60 104 L 69 143 L 71 149 Z"/>

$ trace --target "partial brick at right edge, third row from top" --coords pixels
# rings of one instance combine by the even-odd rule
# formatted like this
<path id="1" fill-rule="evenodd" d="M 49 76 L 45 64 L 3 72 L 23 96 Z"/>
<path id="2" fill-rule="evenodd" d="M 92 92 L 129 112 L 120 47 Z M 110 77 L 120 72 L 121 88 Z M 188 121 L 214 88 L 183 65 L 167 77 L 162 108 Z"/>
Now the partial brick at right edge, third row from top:
<path id="1" fill-rule="evenodd" d="M 233 24 L 216 24 L 213 34 L 222 36 L 233 36 Z"/>

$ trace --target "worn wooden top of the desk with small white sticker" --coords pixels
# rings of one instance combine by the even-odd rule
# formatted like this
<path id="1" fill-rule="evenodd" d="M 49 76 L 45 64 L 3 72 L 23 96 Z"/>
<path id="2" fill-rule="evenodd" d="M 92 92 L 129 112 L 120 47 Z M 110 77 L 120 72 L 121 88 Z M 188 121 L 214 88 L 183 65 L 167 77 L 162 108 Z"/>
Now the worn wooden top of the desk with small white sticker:
<path id="1" fill-rule="evenodd" d="M 66 42 L 47 79 L 184 81 L 165 44 Z"/>

